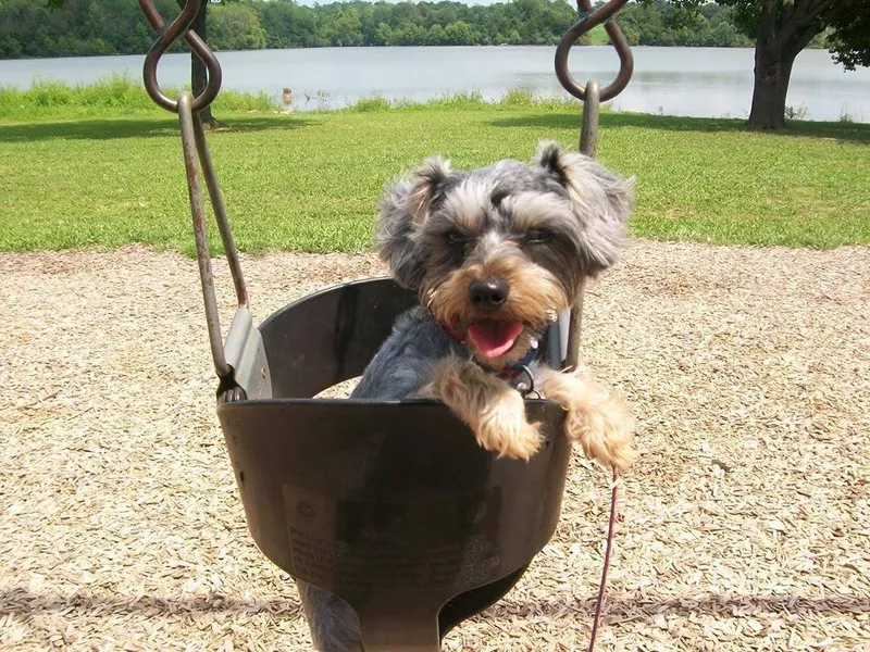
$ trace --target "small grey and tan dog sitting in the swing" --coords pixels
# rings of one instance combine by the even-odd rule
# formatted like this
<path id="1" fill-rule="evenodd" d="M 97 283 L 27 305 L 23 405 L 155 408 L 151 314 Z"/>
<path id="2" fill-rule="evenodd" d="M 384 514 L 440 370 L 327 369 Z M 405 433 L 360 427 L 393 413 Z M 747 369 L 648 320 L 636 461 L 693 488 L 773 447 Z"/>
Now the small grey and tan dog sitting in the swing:
<path id="1" fill-rule="evenodd" d="M 625 471 L 636 453 L 624 401 L 575 369 L 548 367 L 539 352 L 582 284 L 617 262 L 632 190 L 633 179 L 549 141 L 532 164 L 455 171 L 435 156 L 391 183 L 377 248 L 420 305 L 397 319 L 352 397 L 440 401 L 484 449 L 527 461 L 542 435 L 526 418 L 520 378 L 566 410 L 567 436 L 588 457 Z M 343 600 L 303 582 L 299 590 L 321 652 L 361 649 Z"/>

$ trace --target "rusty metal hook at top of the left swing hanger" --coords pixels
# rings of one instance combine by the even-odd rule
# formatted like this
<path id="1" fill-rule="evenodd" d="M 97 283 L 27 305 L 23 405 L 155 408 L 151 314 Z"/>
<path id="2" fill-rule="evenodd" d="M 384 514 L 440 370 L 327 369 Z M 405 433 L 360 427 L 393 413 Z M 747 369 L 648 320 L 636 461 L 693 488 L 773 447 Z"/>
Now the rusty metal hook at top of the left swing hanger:
<path id="1" fill-rule="evenodd" d="M 145 57 L 145 65 L 142 66 L 145 89 L 154 103 L 173 113 L 178 112 L 178 102 L 167 97 L 160 89 L 160 84 L 157 80 L 157 65 L 160 62 L 160 58 L 182 35 L 184 35 L 187 45 L 190 46 L 197 59 L 206 64 L 206 68 L 209 72 L 209 83 L 206 86 L 206 90 L 194 98 L 191 110 L 195 113 L 201 111 L 214 101 L 221 90 L 222 73 L 217 58 L 209 50 L 209 47 L 199 38 L 196 32 L 190 32 L 190 25 L 194 24 L 202 2 L 208 2 L 208 0 L 187 0 L 182 13 L 164 29 L 163 18 L 158 13 L 152 1 L 139 0 L 139 8 L 142 10 L 148 23 L 156 32 L 160 33 L 160 38 L 149 48 Z"/>

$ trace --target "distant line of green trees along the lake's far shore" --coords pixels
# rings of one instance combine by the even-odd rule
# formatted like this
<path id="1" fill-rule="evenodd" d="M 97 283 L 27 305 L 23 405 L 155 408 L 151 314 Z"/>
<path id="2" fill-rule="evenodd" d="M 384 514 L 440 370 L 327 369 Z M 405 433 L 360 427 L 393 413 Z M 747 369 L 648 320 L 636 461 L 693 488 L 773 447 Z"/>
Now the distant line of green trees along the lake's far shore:
<path id="1" fill-rule="evenodd" d="M 0 1 L 0 58 L 138 54 L 153 34 L 132 0 Z M 863 0 L 855 0 L 863 1 Z M 173 0 L 156 0 L 166 18 Z M 633 45 L 747 46 L 735 10 L 705 5 L 687 17 L 664 1 L 630 4 L 619 17 Z M 212 4 L 209 43 L 217 50 L 347 46 L 555 45 L 576 22 L 566 0 L 513 0 L 488 7 L 461 2 L 334 2 L 293 0 Z M 176 46 L 176 51 L 183 46 Z"/>

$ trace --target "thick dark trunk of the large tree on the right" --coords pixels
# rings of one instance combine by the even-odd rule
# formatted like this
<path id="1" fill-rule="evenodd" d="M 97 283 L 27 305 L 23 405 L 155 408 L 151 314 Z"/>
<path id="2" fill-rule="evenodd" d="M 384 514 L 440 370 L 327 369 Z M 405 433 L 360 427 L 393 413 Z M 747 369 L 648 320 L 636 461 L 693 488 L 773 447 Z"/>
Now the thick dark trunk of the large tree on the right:
<path id="1" fill-rule="evenodd" d="M 753 129 L 785 128 L 785 98 L 796 57 L 797 52 L 793 53 L 775 42 L 762 43 L 759 39 L 756 45 L 755 87 L 749 112 L 749 127 Z"/>

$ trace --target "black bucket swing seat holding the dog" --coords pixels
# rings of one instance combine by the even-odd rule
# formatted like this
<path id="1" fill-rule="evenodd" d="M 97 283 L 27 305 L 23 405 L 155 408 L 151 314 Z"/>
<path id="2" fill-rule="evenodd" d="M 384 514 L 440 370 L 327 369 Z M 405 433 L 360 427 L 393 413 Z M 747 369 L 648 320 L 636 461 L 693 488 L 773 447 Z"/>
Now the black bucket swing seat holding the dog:
<path id="1" fill-rule="evenodd" d="M 361 375 L 413 303 L 371 279 L 279 310 L 259 329 L 274 398 L 217 406 L 257 544 L 346 600 L 366 652 L 435 652 L 509 591 L 556 529 L 570 456 L 548 401 L 526 403 L 546 436 L 526 463 L 435 402 L 312 398 Z"/>

